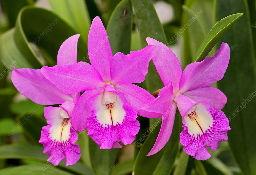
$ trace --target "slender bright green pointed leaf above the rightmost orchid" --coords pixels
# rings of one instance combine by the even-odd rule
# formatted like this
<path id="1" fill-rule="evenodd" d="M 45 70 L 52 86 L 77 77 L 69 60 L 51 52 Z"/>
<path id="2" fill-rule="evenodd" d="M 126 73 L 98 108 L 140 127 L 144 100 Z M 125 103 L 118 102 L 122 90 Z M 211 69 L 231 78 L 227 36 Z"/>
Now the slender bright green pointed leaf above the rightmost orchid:
<path id="1" fill-rule="evenodd" d="M 236 13 L 220 19 L 220 21 L 212 27 L 210 32 L 204 38 L 204 41 L 201 43 L 199 49 L 196 52 L 194 62 L 204 60 L 204 58 L 211 51 L 214 45 L 220 40 L 223 34 L 225 34 L 228 29 L 230 29 L 230 27 L 232 27 L 236 21 L 241 18 L 242 15 L 242 13 Z"/>

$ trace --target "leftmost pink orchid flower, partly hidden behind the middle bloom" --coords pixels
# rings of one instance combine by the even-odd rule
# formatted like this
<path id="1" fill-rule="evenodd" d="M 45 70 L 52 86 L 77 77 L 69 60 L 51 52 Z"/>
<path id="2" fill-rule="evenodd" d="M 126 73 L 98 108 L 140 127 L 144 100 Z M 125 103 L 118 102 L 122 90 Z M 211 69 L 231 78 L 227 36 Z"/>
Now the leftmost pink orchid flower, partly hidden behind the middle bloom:
<path id="1" fill-rule="evenodd" d="M 57 65 L 76 63 L 76 49 L 79 34 L 69 37 L 60 46 Z M 74 143 L 78 136 L 72 128 L 70 119 L 78 94 L 60 92 L 41 73 L 40 69 L 16 69 L 12 72 L 12 82 L 17 90 L 33 102 L 41 105 L 61 104 L 60 107 L 45 107 L 44 116 L 48 125 L 42 128 L 39 143 L 44 145 L 44 153 L 53 165 L 66 158 L 66 166 L 75 164 L 81 157 L 80 147 Z"/>

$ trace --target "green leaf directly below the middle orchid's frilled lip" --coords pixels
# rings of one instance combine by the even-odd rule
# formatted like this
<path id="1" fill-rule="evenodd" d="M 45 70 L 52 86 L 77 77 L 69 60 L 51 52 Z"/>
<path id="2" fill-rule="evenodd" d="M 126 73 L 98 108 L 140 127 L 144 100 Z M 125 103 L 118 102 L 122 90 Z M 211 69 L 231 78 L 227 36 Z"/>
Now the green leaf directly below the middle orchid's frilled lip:
<path id="1" fill-rule="evenodd" d="M 113 168 L 116 167 L 119 148 L 100 149 L 100 146 L 92 138 L 89 138 L 88 144 L 94 173 L 96 175 L 110 174 Z"/>

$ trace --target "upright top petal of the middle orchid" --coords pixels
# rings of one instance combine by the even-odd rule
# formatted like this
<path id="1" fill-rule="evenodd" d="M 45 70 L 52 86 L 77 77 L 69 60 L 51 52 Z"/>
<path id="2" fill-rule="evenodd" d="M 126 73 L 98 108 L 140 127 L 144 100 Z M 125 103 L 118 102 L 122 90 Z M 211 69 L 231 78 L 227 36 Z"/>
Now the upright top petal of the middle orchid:
<path id="1" fill-rule="evenodd" d="M 110 59 L 113 57 L 107 32 L 101 19 L 96 16 L 88 35 L 88 54 L 91 65 L 105 82 L 110 81 Z"/>

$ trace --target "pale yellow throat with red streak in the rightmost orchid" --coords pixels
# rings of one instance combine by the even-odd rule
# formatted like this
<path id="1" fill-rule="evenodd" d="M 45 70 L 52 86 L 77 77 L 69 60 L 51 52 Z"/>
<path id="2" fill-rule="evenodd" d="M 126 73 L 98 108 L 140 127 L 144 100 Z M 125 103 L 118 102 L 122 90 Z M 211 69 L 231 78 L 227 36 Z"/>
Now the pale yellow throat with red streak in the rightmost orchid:
<path id="1" fill-rule="evenodd" d="M 184 117 L 185 126 L 188 127 L 190 135 L 203 134 L 212 124 L 213 119 L 210 112 L 205 108 L 204 104 L 198 103 L 190 108 Z"/>

